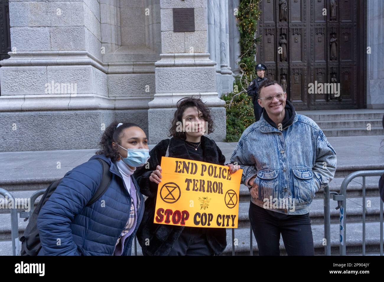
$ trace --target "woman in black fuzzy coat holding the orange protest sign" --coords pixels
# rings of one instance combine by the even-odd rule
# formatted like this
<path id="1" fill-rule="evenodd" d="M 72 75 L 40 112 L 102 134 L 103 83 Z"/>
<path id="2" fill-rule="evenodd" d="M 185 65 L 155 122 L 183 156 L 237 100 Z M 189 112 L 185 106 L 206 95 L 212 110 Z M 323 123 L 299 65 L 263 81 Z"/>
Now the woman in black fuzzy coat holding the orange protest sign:
<path id="1" fill-rule="evenodd" d="M 177 125 L 185 122 L 185 131 L 178 132 Z M 178 123 L 179 122 L 179 123 Z M 192 124 L 197 125 L 193 129 Z M 180 127 L 179 127 L 180 128 Z M 169 157 L 196 160 L 224 165 L 225 157 L 216 143 L 203 136 L 205 131 L 213 132 L 210 110 L 200 99 L 186 97 L 177 102 L 177 109 L 169 130 L 171 139 L 159 142 L 149 153 L 149 168 L 142 167 L 135 177 L 146 200 L 142 224 L 137 238 L 144 255 L 185 256 L 219 255 L 227 246 L 225 228 L 184 227 L 156 224 L 154 221 L 157 186 L 161 183 L 161 158 Z M 228 164 L 231 173 L 238 166 Z"/>

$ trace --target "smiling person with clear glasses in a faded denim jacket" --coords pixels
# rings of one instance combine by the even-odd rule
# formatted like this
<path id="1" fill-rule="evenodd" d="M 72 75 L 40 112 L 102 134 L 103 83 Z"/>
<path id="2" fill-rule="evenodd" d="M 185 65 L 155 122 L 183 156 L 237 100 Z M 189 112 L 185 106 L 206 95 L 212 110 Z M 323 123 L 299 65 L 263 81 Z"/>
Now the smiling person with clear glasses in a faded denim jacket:
<path id="1" fill-rule="evenodd" d="M 251 194 L 250 224 L 261 256 L 314 255 L 309 217 L 314 194 L 336 171 L 336 153 L 319 126 L 296 114 L 283 87 L 272 79 L 258 87 L 262 117 L 244 130 L 231 163 L 243 168 Z"/>

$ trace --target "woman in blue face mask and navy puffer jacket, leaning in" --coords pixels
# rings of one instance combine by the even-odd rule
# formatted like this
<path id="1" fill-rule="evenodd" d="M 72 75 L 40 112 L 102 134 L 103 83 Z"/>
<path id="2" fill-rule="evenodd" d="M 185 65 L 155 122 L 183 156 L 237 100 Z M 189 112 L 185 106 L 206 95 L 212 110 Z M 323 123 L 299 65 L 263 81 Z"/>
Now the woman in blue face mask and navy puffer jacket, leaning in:
<path id="1" fill-rule="evenodd" d="M 114 122 L 100 145 L 88 162 L 66 173 L 42 206 L 37 220 L 39 255 L 131 255 L 144 212 L 144 198 L 132 174 L 149 158 L 147 137 L 136 124 Z M 103 178 L 98 158 L 108 164 L 111 182 L 97 201 L 87 205 Z"/>

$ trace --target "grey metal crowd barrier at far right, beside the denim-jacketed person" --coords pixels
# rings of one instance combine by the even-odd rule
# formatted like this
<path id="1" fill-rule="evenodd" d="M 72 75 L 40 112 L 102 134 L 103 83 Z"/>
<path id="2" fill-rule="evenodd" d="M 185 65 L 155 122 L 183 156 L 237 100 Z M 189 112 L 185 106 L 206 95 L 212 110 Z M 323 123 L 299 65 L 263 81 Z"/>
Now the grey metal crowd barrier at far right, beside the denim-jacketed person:
<path id="1" fill-rule="evenodd" d="M 347 199 L 347 186 L 354 178 L 362 176 L 362 255 L 365 256 L 365 213 L 366 213 L 366 187 L 365 187 L 365 178 L 366 176 L 381 176 L 384 173 L 384 170 L 359 170 L 349 174 L 344 178 L 340 187 L 340 194 L 333 195 L 333 200 L 338 201 L 338 207 L 340 209 L 340 256 L 346 255 L 346 199 Z M 383 255 L 383 202 L 380 200 L 380 255 Z"/>

